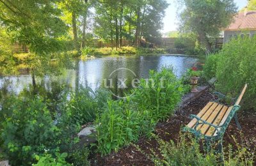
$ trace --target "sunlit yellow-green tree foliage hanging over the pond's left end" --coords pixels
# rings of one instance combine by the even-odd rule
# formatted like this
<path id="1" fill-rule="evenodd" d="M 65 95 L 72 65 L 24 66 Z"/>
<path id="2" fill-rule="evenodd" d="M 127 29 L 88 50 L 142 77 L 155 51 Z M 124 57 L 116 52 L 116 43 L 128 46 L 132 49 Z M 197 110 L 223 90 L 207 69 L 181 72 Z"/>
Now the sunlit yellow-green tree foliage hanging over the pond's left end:
<path id="1" fill-rule="evenodd" d="M 52 52 L 61 50 L 61 36 L 67 26 L 60 19 L 61 11 L 56 7 L 58 0 L 26 1 L 0 0 L 0 21 L 10 38 L 29 47 L 33 86 L 35 75 L 58 72 L 53 70 Z"/>

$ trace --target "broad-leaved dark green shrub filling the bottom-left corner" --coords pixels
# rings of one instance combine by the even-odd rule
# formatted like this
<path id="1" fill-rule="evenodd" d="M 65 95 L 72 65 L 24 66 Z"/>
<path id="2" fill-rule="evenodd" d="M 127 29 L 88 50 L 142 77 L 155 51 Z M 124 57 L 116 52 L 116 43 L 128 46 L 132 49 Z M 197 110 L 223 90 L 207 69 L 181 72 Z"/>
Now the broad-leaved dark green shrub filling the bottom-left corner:
<path id="1" fill-rule="evenodd" d="M 11 98 L 14 99 L 14 98 Z M 1 124 L 3 148 L 12 165 L 31 164 L 34 155 L 45 149 L 54 154 L 62 139 L 61 130 L 54 125 L 47 105 L 41 98 L 26 100 L 15 98 L 3 102 L 4 121 Z"/>

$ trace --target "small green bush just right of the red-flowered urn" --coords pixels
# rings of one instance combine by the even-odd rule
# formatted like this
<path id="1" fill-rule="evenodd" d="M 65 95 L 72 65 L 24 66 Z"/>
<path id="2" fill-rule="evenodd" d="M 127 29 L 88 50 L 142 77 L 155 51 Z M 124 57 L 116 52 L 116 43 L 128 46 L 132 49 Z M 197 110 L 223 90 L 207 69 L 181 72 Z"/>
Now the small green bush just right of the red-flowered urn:
<path id="1" fill-rule="evenodd" d="M 212 79 L 212 77 L 216 77 L 217 63 L 219 59 L 219 54 L 211 54 L 206 57 L 204 65 L 204 77 L 207 80 Z"/>

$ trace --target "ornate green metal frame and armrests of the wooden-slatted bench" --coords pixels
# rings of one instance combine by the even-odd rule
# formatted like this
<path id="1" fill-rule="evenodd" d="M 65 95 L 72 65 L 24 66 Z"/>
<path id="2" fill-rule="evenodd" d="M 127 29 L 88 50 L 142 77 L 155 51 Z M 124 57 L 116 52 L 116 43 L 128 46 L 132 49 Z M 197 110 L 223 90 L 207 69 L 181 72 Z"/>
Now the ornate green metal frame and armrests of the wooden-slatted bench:
<path id="1" fill-rule="evenodd" d="M 191 119 L 196 119 L 196 124 L 193 128 L 189 128 L 188 126 L 183 128 L 184 132 L 191 132 L 195 135 L 196 139 L 205 139 L 206 142 L 206 146 L 207 146 L 207 151 L 209 151 L 211 149 L 211 144 L 212 142 L 216 142 L 218 143 L 218 152 L 222 153 L 223 152 L 223 135 L 225 133 L 225 131 L 227 130 L 228 124 L 230 123 L 230 121 L 232 120 L 232 118 L 234 117 L 234 120 L 236 121 L 237 124 L 237 128 L 239 128 L 239 130 L 241 130 L 241 126 L 238 122 L 237 119 L 237 110 L 240 109 L 240 105 L 239 103 L 241 102 L 241 99 L 243 98 L 243 94 L 246 91 L 247 88 L 247 84 L 245 84 L 243 90 L 241 91 L 241 93 L 239 94 L 239 96 L 237 98 L 230 98 L 233 101 L 236 101 L 233 105 L 232 110 L 230 111 L 227 119 L 225 120 L 225 122 L 221 125 L 214 125 L 212 123 L 208 123 L 207 121 L 204 121 L 203 119 L 201 119 L 200 117 L 196 116 L 196 115 L 191 115 L 189 116 Z M 218 96 L 218 100 L 214 101 L 216 103 L 220 103 L 220 100 L 225 99 L 225 98 L 229 98 L 227 96 L 225 96 L 224 94 L 215 92 L 214 94 L 216 94 Z M 208 124 L 209 126 L 213 127 L 216 131 L 216 134 L 213 134 L 212 137 L 209 137 L 207 135 L 202 134 L 200 131 L 196 130 L 197 126 L 199 124 Z"/>

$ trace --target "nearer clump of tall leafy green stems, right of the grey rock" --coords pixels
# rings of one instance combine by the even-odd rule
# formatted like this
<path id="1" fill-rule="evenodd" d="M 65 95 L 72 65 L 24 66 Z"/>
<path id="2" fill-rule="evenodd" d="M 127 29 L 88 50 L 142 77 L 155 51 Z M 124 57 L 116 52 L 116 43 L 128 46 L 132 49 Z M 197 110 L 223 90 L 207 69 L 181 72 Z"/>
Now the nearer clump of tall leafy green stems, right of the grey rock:
<path id="1" fill-rule="evenodd" d="M 156 122 L 147 110 L 131 109 L 130 102 L 108 102 L 108 108 L 98 117 L 98 151 L 107 155 L 122 146 L 137 141 L 139 137 L 152 132 Z"/>

